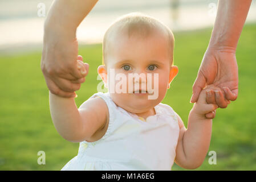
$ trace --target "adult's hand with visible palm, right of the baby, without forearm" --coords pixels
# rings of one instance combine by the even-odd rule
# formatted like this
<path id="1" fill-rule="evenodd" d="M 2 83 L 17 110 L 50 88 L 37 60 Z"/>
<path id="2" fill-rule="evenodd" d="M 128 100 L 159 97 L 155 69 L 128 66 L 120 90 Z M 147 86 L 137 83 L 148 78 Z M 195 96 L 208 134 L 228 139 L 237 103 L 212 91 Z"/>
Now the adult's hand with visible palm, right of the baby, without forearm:
<path id="1" fill-rule="evenodd" d="M 216 47 L 207 49 L 193 85 L 190 102 L 196 102 L 201 90 L 210 84 L 221 88 L 222 92 L 206 97 L 208 104 L 217 104 L 225 108 L 230 101 L 237 99 L 238 67 L 234 49 Z M 212 118 L 213 113 L 206 114 L 206 117 Z"/>

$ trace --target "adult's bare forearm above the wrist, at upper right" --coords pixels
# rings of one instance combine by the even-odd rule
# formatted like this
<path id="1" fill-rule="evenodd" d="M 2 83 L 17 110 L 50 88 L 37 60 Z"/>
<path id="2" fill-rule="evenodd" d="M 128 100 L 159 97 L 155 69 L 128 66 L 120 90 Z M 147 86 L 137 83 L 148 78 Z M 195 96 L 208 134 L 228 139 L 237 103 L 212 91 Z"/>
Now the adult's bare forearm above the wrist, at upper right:
<path id="1" fill-rule="evenodd" d="M 209 47 L 236 49 L 251 0 L 219 0 Z"/>

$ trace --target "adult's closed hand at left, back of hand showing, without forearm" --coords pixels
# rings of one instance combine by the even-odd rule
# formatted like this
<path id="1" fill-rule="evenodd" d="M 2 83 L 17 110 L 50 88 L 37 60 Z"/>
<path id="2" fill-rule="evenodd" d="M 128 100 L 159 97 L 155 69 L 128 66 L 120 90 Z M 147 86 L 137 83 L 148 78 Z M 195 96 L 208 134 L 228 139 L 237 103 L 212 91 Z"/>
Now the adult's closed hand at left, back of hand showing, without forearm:
<path id="1" fill-rule="evenodd" d="M 60 97 L 75 97 L 75 91 L 85 81 L 86 72 L 78 69 L 78 42 L 65 36 L 44 36 L 41 69 L 51 93 Z M 84 64 L 84 68 L 88 65 Z"/>

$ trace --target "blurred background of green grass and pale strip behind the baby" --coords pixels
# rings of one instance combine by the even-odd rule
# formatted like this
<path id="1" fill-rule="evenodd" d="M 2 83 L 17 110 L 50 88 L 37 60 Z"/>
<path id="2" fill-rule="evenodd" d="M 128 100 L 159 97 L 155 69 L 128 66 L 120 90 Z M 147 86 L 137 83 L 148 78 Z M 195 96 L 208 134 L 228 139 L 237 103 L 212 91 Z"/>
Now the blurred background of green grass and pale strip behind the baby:
<path id="1" fill-rule="evenodd" d="M 48 106 L 48 89 L 40 70 L 43 23 L 51 0 L 0 1 L 0 169 L 59 170 L 78 153 L 79 143 L 64 140 L 55 130 Z M 169 26 L 178 76 L 165 99 L 185 126 L 192 104 L 192 85 L 208 46 L 217 0 L 99 0 L 77 31 L 79 55 L 90 64 L 86 82 L 76 92 L 80 106 L 96 93 L 101 41 L 120 15 L 139 11 Z M 256 170 L 256 3 L 252 2 L 237 47 L 239 96 L 213 120 L 210 155 L 196 170 Z M 38 164 L 38 151 L 46 164 Z M 174 164 L 173 170 L 183 170 Z"/>

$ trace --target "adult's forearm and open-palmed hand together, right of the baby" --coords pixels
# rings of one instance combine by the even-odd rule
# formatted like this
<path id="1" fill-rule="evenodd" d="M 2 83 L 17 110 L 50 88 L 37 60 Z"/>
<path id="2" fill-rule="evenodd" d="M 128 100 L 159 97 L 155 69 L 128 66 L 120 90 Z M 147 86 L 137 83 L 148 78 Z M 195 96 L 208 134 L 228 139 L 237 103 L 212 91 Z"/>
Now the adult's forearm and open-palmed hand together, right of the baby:
<path id="1" fill-rule="evenodd" d="M 196 102 L 199 93 L 206 85 L 221 88 L 220 94 L 206 97 L 209 104 L 227 107 L 229 101 L 237 99 L 238 68 L 235 58 L 238 39 L 250 9 L 251 0 L 219 0 L 217 16 L 196 81 L 190 102 Z M 214 117 L 212 113 L 207 118 Z"/>

